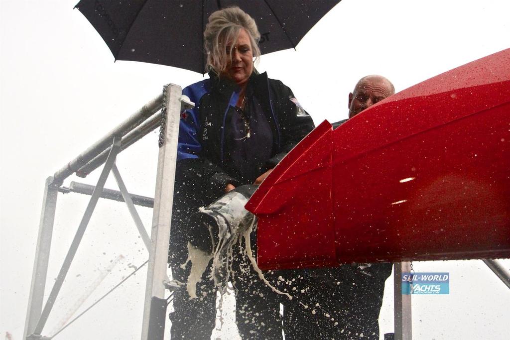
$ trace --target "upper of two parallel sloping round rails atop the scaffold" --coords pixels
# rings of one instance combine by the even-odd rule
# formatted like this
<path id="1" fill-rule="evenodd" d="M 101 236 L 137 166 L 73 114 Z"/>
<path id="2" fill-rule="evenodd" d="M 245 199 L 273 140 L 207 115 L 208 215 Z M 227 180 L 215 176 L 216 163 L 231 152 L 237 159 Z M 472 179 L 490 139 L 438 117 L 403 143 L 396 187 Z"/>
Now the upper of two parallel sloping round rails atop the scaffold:
<path id="1" fill-rule="evenodd" d="M 55 184 L 57 186 L 61 186 L 65 178 L 70 176 L 73 172 L 78 171 L 95 156 L 107 149 L 111 145 L 111 141 L 114 136 L 118 138 L 123 137 L 125 134 L 140 125 L 148 117 L 153 115 L 156 111 L 161 109 L 161 99 L 162 95 L 149 101 L 140 110 L 111 130 L 105 137 L 101 138 L 87 150 L 79 154 L 77 158 L 73 159 L 66 164 L 66 166 L 57 171 L 54 175 Z"/>

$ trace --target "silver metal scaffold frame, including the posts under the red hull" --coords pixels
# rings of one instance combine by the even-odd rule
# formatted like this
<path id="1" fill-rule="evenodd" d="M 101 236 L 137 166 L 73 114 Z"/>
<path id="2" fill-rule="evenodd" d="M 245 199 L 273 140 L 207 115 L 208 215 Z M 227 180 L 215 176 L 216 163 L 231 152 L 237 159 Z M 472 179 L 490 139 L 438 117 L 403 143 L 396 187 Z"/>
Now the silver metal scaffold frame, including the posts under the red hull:
<path id="1" fill-rule="evenodd" d="M 45 337 L 41 334 L 64 283 L 73 257 L 83 238 L 94 207 L 101 197 L 126 203 L 135 226 L 149 252 L 141 339 L 164 339 L 165 313 L 168 304 L 165 299 L 165 289 L 174 290 L 177 288 L 176 285 L 169 281 L 167 276 L 167 256 L 179 120 L 180 113 L 184 109 L 192 108 L 193 106 L 194 104 L 189 102 L 187 97 L 182 96 L 180 86 L 169 84 L 164 88 L 162 95 L 149 101 L 140 110 L 111 130 L 105 137 L 79 154 L 53 176 L 46 179 L 23 339 L 49 339 L 56 335 Z M 160 112 L 159 110 L 162 108 L 163 110 Z M 130 194 L 115 165 L 116 156 L 157 126 L 160 126 L 160 122 L 162 134 L 160 135 L 155 198 Z M 71 174 L 75 173 L 80 177 L 86 177 L 90 172 L 103 164 L 103 170 L 95 186 L 77 182 L 71 182 L 69 187 L 63 186 L 63 181 Z M 104 188 L 110 172 L 113 173 L 120 191 Z M 43 304 L 59 192 L 82 193 L 91 197 L 54 286 L 49 293 L 46 303 Z M 154 208 L 150 237 L 136 211 L 135 204 Z M 507 270 L 504 270 L 494 260 L 484 259 L 483 261 L 510 287 L 510 275 Z M 402 272 L 409 271 L 409 262 L 394 264 L 394 315 L 395 339 L 397 340 L 412 338 L 411 295 L 402 295 L 401 293 Z"/>

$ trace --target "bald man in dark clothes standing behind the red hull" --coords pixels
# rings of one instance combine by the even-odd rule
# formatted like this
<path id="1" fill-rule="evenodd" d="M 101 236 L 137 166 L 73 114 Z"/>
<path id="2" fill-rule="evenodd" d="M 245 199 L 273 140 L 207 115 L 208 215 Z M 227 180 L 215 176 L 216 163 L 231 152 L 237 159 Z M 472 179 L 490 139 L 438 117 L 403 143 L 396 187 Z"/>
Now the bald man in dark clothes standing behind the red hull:
<path id="1" fill-rule="evenodd" d="M 349 93 L 349 119 L 394 93 L 385 77 L 363 77 Z M 296 293 L 284 302 L 285 338 L 378 339 L 379 311 L 391 269 L 391 263 L 377 263 L 294 271 Z"/>

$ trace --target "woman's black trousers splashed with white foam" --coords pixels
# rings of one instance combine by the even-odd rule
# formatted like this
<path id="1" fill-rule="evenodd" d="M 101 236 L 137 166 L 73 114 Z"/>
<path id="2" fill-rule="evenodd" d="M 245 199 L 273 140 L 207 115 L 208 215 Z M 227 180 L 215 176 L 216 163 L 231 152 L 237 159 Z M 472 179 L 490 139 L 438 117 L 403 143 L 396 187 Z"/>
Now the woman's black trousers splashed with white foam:
<path id="1" fill-rule="evenodd" d="M 236 324 L 241 338 L 282 339 L 279 296 L 262 282 L 238 245 L 234 247 L 233 254 L 235 276 L 232 283 L 236 294 Z M 173 278 L 186 282 L 190 270 L 190 264 L 186 269 L 174 266 Z M 210 268 L 197 284 L 196 295 L 196 299 L 190 299 L 184 289 L 174 292 L 174 312 L 169 315 L 172 339 L 211 338 L 216 322 L 216 290 L 210 277 Z"/>

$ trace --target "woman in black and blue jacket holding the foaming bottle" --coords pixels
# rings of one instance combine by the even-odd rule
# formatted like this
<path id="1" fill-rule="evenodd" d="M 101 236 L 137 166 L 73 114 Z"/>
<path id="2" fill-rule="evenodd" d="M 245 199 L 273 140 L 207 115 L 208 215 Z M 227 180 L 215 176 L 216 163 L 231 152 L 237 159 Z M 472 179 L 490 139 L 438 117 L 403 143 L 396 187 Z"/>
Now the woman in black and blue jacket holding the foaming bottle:
<path id="1" fill-rule="evenodd" d="M 245 184 L 260 184 L 271 169 L 313 128 L 292 91 L 253 67 L 260 56 L 255 21 L 237 7 L 214 12 L 204 32 L 210 78 L 183 94 L 195 108 L 181 115 L 175 199 L 170 236 L 173 277 L 186 281 L 187 220 L 200 206 Z M 251 244 L 255 244 L 252 232 Z M 281 338 L 278 297 L 235 251 L 236 322 L 243 338 Z M 175 292 L 172 338 L 210 338 L 216 293 L 206 270 L 199 298 Z"/>

